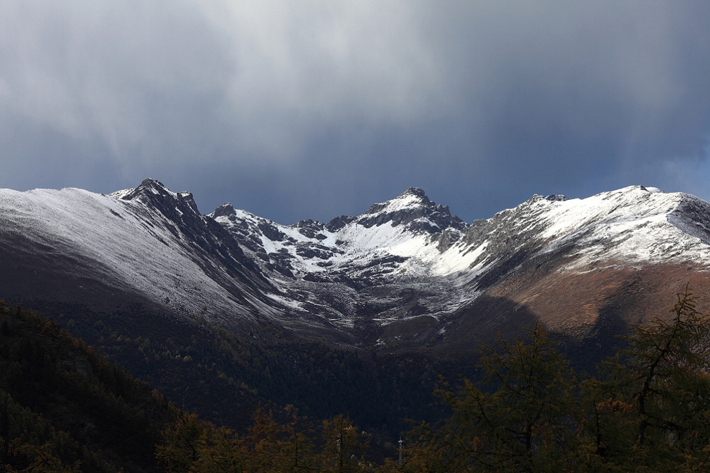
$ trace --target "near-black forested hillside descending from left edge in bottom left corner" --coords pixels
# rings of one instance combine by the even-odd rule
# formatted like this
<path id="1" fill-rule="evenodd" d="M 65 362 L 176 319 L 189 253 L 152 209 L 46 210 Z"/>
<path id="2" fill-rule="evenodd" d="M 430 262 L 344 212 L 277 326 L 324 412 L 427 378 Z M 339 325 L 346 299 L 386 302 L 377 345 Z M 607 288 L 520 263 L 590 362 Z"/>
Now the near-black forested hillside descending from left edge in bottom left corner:
<path id="1" fill-rule="evenodd" d="M 0 465 L 9 472 L 158 471 L 179 411 L 36 312 L 0 301 Z"/>

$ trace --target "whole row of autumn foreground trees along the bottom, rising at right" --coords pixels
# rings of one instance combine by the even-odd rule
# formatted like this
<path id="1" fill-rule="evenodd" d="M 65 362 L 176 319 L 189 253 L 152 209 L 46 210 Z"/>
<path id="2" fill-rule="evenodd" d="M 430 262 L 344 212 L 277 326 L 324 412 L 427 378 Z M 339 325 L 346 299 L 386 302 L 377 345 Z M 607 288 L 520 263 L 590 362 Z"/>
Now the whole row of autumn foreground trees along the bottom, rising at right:
<path id="1" fill-rule="evenodd" d="M 318 433 L 258 411 L 249 432 L 195 416 L 163 431 L 169 472 L 703 472 L 710 468 L 710 317 L 689 288 L 670 320 L 638 325 L 593 374 L 577 374 L 537 324 L 484 347 L 480 381 L 442 381 L 450 414 L 405 433 L 375 464 L 342 415 Z M 308 435 L 307 435 L 308 434 Z"/>

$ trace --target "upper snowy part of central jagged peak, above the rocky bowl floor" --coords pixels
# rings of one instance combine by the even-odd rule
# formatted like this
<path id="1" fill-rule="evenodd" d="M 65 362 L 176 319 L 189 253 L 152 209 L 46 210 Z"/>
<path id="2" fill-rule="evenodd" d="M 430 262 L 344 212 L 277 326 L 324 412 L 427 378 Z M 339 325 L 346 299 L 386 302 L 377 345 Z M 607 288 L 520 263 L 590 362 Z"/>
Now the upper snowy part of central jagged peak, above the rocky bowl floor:
<path id="1" fill-rule="evenodd" d="M 257 237 L 253 253 L 261 254 L 262 261 L 264 255 L 287 259 L 289 270 L 297 277 L 336 271 L 356 273 L 386 256 L 412 261 L 413 264 L 406 265 L 403 271 L 421 274 L 424 267 L 432 266 L 440 254 L 434 237 L 442 227 L 446 228 L 450 222 L 461 227 L 457 217 L 450 217 L 450 222 L 442 222 L 442 215 L 437 215 L 438 222 L 427 218 L 427 214 L 447 214 L 448 210 L 435 206 L 422 190 L 416 188 L 408 189 L 393 200 L 373 205 L 365 214 L 350 217 L 350 222 L 334 230 L 320 222 L 276 224 L 251 212 L 225 206 L 210 216 L 238 240 L 246 237 L 246 228 L 249 228 L 250 236 Z M 413 229 L 417 226 L 431 232 L 417 232 Z M 437 268 L 439 274 L 446 273 L 441 263 Z"/>

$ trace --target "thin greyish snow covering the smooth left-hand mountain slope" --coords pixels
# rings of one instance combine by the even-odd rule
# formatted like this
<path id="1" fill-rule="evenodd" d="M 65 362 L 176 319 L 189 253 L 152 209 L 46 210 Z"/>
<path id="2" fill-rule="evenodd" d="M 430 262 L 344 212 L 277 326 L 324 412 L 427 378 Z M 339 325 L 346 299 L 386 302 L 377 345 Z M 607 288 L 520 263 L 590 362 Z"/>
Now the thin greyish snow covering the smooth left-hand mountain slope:
<path id="1" fill-rule="evenodd" d="M 233 275 L 222 274 L 222 279 L 239 286 L 241 293 L 230 292 L 229 286 L 219 283 L 217 276 L 226 273 L 225 268 L 210 263 L 185 229 L 141 195 L 159 191 L 170 197 L 168 205 L 175 215 L 185 218 L 192 207 L 197 210 L 185 195 L 170 193 L 148 180 L 141 187 L 114 195 L 80 189 L 0 190 L 4 244 L 33 246 L 50 256 L 71 257 L 83 263 L 59 268 L 57 277 L 94 278 L 179 312 L 206 310 L 224 317 L 273 311 L 253 291 L 246 290 L 245 283 L 236 283 Z M 209 220 L 194 213 L 194 219 Z"/>

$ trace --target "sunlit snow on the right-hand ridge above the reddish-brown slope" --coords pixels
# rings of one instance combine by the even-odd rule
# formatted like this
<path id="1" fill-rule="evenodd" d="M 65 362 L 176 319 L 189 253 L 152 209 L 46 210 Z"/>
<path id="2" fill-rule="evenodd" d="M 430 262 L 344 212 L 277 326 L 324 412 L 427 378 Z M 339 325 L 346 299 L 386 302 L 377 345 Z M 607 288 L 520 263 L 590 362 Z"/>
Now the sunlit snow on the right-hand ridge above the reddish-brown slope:
<path id="1" fill-rule="evenodd" d="M 563 271 L 606 263 L 710 264 L 710 205 L 692 195 L 652 189 L 625 187 L 573 200 L 535 195 L 515 209 L 473 222 L 454 246 L 462 254 L 476 249 L 474 264 L 520 252 L 526 259 L 564 254 Z"/>

